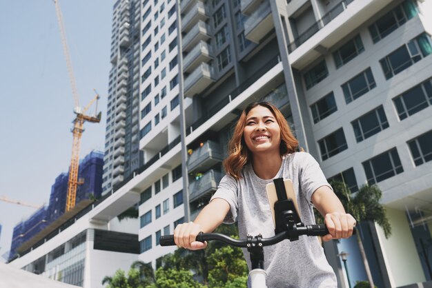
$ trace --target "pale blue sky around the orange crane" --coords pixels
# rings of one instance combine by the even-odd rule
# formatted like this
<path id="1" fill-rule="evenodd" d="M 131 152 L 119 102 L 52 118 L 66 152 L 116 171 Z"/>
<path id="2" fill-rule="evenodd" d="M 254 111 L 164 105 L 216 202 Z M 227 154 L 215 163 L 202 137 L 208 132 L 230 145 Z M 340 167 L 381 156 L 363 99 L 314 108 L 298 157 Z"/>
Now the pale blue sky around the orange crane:
<path id="1" fill-rule="evenodd" d="M 52 0 L 1 0 L 0 196 L 48 205 L 68 172 L 74 101 Z M 97 90 L 101 123 L 86 123 L 80 158 L 104 150 L 114 0 L 59 0 L 72 68 L 85 107 Z M 93 105 L 89 112 L 95 111 Z M 36 209 L 0 201 L 0 256 Z"/>

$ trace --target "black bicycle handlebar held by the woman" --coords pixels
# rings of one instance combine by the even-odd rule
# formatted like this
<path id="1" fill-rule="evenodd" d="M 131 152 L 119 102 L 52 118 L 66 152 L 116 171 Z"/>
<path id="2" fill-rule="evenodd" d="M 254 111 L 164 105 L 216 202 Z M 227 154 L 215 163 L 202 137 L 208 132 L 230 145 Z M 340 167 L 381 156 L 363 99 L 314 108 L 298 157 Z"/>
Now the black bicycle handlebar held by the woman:
<path id="1" fill-rule="evenodd" d="M 328 229 L 324 224 L 315 224 L 315 225 L 302 225 L 297 226 L 295 228 L 296 236 L 306 235 L 306 236 L 325 236 L 328 234 Z M 296 236 L 290 236 L 290 234 L 286 231 L 280 232 L 273 237 L 270 238 L 262 238 L 261 235 L 252 237 L 248 236 L 247 239 L 235 239 L 228 237 L 224 234 L 218 233 L 203 233 L 200 232 L 197 235 L 196 240 L 199 242 L 204 242 L 208 240 L 217 240 L 223 243 L 226 243 L 235 247 L 250 247 L 250 245 L 261 245 L 261 246 L 270 246 L 276 243 L 281 242 L 282 240 L 295 240 Z M 164 235 L 159 238 L 159 244 L 161 246 L 172 246 L 175 245 L 174 235 Z"/>

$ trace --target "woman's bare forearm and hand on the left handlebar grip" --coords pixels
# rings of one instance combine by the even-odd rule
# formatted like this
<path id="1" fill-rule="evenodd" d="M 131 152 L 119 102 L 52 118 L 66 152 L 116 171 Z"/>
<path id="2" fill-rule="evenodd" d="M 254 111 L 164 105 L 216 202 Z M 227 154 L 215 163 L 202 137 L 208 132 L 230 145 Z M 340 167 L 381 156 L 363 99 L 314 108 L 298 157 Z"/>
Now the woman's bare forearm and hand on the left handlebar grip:
<path id="1" fill-rule="evenodd" d="M 204 249 L 207 243 L 195 241 L 199 232 L 213 232 L 222 224 L 226 214 L 230 211 L 230 205 L 222 198 L 213 199 L 199 212 L 193 222 L 177 225 L 174 230 L 174 241 L 179 247 L 190 250 Z"/>

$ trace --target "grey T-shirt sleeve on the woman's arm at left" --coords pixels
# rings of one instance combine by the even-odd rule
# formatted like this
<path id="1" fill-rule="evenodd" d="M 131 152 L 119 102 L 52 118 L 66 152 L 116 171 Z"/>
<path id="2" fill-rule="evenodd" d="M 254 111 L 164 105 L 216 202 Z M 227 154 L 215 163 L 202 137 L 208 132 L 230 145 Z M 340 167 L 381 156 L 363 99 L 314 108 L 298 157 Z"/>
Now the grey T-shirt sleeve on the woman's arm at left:
<path id="1" fill-rule="evenodd" d="M 210 202 L 215 198 L 222 198 L 230 205 L 230 211 L 226 214 L 224 223 L 233 224 L 237 218 L 239 209 L 239 201 L 237 196 L 237 181 L 233 176 L 225 175 L 217 186 L 215 194 L 213 194 Z"/>

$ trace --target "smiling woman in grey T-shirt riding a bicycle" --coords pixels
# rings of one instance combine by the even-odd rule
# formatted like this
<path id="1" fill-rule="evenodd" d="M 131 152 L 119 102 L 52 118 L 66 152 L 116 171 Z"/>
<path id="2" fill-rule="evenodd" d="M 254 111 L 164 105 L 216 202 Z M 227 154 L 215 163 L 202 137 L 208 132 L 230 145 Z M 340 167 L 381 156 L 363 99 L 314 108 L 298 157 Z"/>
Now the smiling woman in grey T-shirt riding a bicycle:
<path id="1" fill-rule="evenodd" d="M 239 236 L 275 235 L 266 184 L 273 178 L 293 181 L 300 218 L 315 222 L 313 206 L 324 216 L 329 234 L 323 240 L 348 238 L 355 219 L 346 214 L 340 200 L 328 185 L 320 165 L 306 152 L 295 152 L 298 142 L 282 113 L 270 103 L 251 103 L 242 112 L 229 156 L 224 161 L 227 175 L 210 203 L 190 223 L 178 225 L 175 243 L 186 249 L 203 249 L 207 243 L 195 241 L 199 232 L 212 232 L 222 222 L 238 220 Z M 244 249 L 248 267 L 251 263 Z M 337 287 L 333 269 L 315 237 L 284 240 L 264 247 L 264 269 L 268 287 Z"/>

